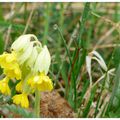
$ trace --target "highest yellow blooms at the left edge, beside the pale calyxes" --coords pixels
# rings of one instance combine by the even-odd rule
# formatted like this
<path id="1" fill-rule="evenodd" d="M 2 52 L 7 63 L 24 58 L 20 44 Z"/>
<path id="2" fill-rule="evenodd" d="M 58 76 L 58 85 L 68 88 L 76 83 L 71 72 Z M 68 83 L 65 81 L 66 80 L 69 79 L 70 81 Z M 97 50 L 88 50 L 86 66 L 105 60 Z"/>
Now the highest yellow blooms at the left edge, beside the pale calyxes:
<path id="1" fill-rule="evenodd" d="M 0 55 L 0 66 L 4 69 L 7 77 L 21 79 L 21 70 L 14 51 Z"/>

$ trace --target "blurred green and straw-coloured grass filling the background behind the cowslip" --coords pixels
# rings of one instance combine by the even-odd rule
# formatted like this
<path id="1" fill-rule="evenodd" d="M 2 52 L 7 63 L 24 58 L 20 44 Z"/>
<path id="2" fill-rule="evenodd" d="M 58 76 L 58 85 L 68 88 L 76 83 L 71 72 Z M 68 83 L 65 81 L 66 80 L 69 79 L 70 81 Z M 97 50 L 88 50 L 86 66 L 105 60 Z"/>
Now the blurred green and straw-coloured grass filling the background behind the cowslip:
<path id="1" fill-rule="evenodd" d="M 120 27 L 116 26 L 120 21 L 120 4 L 37 3 L 30 22 L 27 23 L 33 5 L 34 3 L 16 3 L 15 13 L 8 20 L 5 20 L 5 16 L 13 12 L 12 4 L 0 5 L 0 54 L 4 52 L 6 44 L 9 49 L 12 42 L 23 34 L 28 24 L 26 34 L 35 34 L 40 42 L 48 46 L 52 56 L 49 75 L 54 88 L 59 90 L 77 116 L 120 117 Z M 20 12 L 22 6 L 24 9 Z M 10 25 L 12 27 L 6 43 Z M 89 90 L 86 56 L 92 50 L 100 53 L 108 70 L 115 68 L 109 88 L 105 87 L 105 77 Z M 94 84 L 102 73 L 107 74 L 108 71 L 104 72 L 95 61 L 92 61 L 91 66 Z M 1 70 L 0 73 L 2 74 Z M 87 92 L 90 92 L 90 96 L 85 98 Z M 107 95 L 110 95 L 110 102 L 105 103 Z"/>

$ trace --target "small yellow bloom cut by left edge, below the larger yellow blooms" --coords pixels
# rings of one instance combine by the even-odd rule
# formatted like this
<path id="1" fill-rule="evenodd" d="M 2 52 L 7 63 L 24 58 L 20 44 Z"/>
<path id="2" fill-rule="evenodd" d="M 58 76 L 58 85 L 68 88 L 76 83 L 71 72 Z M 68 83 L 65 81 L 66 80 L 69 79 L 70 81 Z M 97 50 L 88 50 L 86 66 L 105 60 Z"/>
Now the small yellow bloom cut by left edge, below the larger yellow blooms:
<path id="1" fill-rule="evenodd" d="M 0 81 L 0 92 L 5 95 L 10 95 L 11 91 L 8 86 L 8 77 L 5 77 L 3 80 Z"/>

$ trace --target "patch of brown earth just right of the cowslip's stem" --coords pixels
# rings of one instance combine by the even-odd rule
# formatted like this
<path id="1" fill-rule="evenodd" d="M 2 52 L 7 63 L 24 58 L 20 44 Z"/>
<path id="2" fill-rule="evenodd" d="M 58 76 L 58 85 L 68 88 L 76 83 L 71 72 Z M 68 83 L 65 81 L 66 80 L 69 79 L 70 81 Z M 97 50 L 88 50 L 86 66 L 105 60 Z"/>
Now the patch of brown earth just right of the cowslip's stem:
<path id="1" fill-rule="evenodd" d="M 41 94 L 41 116 L 51 118 L 72 118 L 74 112 L 68 102 L 58 92 Z"/>

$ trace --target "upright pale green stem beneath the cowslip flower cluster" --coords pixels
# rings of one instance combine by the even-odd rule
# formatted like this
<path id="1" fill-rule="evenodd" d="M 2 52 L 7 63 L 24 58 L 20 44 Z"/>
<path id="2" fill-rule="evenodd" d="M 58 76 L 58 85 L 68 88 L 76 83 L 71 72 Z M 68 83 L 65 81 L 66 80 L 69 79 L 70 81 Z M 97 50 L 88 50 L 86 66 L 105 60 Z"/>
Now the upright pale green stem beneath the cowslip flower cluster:
<path id="1" fill-rule="evenodd" d="M 35 116 L 37 118 L 40 117 L 40 92 L 38 90 L 35 91 L 35 108 L 34 108 Z"/>

